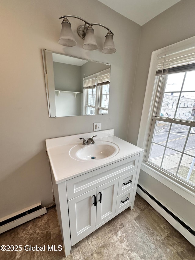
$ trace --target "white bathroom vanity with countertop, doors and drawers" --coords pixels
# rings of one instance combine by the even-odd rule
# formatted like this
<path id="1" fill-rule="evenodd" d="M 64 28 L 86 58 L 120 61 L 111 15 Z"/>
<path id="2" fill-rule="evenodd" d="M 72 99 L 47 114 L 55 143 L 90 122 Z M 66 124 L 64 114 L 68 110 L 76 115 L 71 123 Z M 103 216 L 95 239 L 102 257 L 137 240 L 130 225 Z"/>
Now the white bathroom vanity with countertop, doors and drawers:
<path id="1" fill-rule="evenodd" d="M 89 145 L 79 138 L 94 132 L 46 140 L 66 256 L 71 246 L 134 205 L 143 149 L 115 137 L 113 129 L 96 134 Z"/>

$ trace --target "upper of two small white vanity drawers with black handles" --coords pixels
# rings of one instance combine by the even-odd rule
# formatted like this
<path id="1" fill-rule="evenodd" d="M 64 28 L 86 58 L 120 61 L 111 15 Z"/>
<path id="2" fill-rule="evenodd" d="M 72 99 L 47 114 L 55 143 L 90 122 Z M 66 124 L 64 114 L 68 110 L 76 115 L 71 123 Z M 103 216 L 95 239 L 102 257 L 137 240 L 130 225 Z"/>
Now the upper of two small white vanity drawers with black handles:
<path id="1" fill-rule="evenodd" d="M 128 191 L 131 187 L 134 187 L 136 173 L 137 169 L 119 177 L 118 195 Z"/>

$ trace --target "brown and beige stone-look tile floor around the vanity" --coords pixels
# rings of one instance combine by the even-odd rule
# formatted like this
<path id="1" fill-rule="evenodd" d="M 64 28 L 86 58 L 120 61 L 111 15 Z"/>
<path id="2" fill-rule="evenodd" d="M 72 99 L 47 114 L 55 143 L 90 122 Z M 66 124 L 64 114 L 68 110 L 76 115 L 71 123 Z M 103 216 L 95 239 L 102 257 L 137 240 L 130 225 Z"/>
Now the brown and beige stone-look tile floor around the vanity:
<path id="1" fill-rule="evenodd" d="M 25 245 L 62 245 L 55 207 L 48 213 L 0 235 L 0 245 L 22 245 L 22 251 L 0 251 L 1 260 L 195 260 L 195 247 L 139 194 L 133 210 L 126 209 L 104 226 L 64 251 L 25 251 Z"/>

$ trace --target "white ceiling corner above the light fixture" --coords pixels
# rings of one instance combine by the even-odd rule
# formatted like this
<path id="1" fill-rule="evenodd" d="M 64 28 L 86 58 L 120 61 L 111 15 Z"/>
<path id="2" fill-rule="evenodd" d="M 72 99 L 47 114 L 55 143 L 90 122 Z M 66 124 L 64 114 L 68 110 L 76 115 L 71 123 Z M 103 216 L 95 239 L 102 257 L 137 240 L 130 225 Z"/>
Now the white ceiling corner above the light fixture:
<path id="1" fill-rule="evenodd" d="M 181 0 L 98 0 L 139 25 L 143 25 Z"/>

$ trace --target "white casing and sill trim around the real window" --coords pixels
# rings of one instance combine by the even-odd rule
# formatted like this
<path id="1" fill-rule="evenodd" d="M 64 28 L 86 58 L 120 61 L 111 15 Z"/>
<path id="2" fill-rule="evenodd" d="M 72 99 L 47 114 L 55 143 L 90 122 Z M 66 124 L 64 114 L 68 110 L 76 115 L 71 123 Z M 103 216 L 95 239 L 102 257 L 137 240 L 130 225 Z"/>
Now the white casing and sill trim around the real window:
<path id="1" fill-rule="evenodd" d="M 154 116 L 153 113 L 155 111 L 155 101 L 158 95 L 158 86 L 154 87 L 158 56 L 165 55 L 167 52 L 176 53 L 183 49 L 190 49 L 194 47 L 195 36 L 152 52 L 137 141 L 137 146 L 144 149 L 144 158 L 147 149 L 147 140 L 150 133 L 151 120 Z M 171 176 L 161 173 L 158 169 L 155 169 L 155 167 L 150 166 L 146 162 L 142 162 L 141 169 L 195 205 L 194 189 L 192 189 L 191 187 L 188 188 L 186 185 L 183 185 L 183 183 L 179 183 Z"/>

